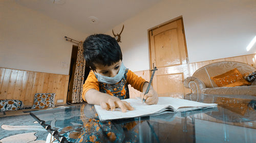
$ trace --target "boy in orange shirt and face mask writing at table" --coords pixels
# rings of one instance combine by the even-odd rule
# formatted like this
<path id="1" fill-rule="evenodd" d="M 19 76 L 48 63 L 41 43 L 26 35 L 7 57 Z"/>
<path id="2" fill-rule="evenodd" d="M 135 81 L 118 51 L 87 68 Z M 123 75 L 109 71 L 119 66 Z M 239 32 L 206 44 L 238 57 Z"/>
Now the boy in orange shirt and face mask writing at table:
<path id="1" fill-rule="evenodd" d="M 120 100 L 130 98 L 128 84 L 143 92 L 143 97 L 148 82 L 125 68 L 115 38 L 104 34 L 89 36 L 83 42 L 83 56 L 92 69 L 83 84 L 83 100 L 106 110 L 113 111 L 116 107 L 120 107 L 122 112 L 133 110 L 129 103 Z M 144 99 L 146 104 L 158 102 L 158 95 L 152 86 Z"/>

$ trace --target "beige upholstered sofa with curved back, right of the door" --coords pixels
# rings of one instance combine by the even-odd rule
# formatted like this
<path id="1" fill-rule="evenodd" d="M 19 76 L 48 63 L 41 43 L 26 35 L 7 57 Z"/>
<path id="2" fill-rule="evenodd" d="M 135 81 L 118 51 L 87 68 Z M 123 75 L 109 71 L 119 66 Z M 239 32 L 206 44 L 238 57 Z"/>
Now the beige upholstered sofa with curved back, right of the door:
<path id="1" fill-rule="evenodd" d="M 223 61 L 206 65 L 184 79 L 184 86 L 191 89 L 193 94 L 207 95 L 252 95 L 256 96 L 256 79 L 250 85 L 237 87 L 218 87 L 211 77 L 221 75 L 237 68 L 242 75 L 256 71 L 255 67 L 245 63 Z"/>

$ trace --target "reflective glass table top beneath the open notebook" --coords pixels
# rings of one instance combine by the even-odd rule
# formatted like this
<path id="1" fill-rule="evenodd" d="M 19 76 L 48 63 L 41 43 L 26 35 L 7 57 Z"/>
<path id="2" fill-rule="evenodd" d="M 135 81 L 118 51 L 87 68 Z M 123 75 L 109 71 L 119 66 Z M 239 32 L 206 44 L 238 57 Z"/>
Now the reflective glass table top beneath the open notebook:
<path id="1" fill-rule="evenodd" d="M 184 96 L 218 107 L 100 122 L 93 105 L 30 114 L 59 142 L 255 142 L 256 97 Z"/>

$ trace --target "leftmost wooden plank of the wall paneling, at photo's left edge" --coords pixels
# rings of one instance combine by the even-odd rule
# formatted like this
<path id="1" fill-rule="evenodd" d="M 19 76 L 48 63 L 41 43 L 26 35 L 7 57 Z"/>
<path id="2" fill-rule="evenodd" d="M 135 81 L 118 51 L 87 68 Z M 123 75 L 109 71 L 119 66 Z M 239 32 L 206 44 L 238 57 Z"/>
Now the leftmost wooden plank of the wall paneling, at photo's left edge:
<path id="1" fill-rule="evenodd" d="M 8 88 L 9 88 L 11 73 L 12 73 L 11 69 L 6 69 L 5 70 L 3 85 L 2 85 L 2 88 L 1 88 L 1 92 L 0 92 L 1 93 L 0 99 L 7 99 L 6 97 L 7 97 L 7 92 L 8 92 Z"/>

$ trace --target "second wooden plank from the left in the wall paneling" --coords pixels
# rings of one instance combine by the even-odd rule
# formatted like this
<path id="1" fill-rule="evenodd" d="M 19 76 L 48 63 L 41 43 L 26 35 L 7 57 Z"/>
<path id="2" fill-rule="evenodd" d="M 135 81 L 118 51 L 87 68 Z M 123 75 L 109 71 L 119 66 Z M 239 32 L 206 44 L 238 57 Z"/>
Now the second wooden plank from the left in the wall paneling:
<path id="1" fill-rule="evenodd" d="M 21 71 L 21 70 L 18 71 L 12 99 L 20 99 L 20 93 L 22 91 L 23 74 L 24 74 L 24 71 Z"/>

